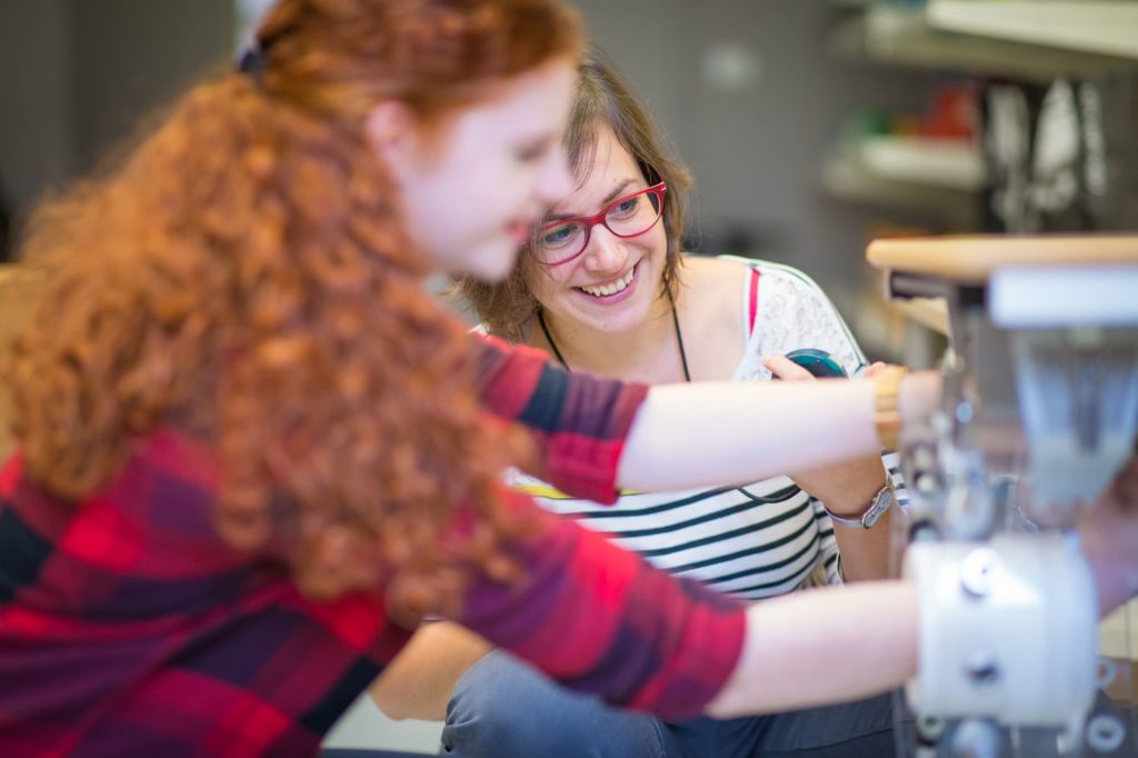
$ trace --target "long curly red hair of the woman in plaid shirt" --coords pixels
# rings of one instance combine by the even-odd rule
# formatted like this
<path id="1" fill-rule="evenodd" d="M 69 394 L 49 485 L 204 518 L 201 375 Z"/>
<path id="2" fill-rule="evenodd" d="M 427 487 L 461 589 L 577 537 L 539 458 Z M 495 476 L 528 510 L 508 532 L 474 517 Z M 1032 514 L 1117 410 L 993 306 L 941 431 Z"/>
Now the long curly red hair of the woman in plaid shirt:
<path id="1" fill-rule="evenodd" d="M 36 216 L 49 285 L 5 371 L 30 473 L 82 497 L 174 425 L 218 450 L 221 533 L 283 539 L 314 595 L 394 575 L 397 608 L 453 601 L 459 504 L 461 554 L 509 574 L 492 451 L 516 446 L 479 423 L 471 340 L 422 290 L 363 118 L 445 113 L 578 35 L 560 0 L 281 0 L 254 74 Z"/>

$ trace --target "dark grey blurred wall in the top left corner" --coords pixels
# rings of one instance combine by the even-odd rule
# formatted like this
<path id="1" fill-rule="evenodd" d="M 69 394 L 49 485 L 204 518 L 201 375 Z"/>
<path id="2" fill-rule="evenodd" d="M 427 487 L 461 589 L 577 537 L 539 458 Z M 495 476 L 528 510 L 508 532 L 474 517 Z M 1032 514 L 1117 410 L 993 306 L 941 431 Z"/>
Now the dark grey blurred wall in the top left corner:
<path id="1" fill-rule="evenodd" d="M 233 56 L 232 0 L 0 2 L 0 176 L 26 212 Z"/>

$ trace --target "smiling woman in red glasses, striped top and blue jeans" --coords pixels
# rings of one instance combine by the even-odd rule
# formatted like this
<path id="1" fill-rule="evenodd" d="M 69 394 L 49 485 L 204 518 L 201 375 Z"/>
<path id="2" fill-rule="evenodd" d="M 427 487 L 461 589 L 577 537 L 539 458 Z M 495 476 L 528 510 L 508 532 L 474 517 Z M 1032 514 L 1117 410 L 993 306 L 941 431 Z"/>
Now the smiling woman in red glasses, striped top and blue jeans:
<path id="1" fill-rule="evenodd" d="M 492 335 L 528 343 L 570 372 L 649 384 L 772 373 L 809 379 L 780 357 L 795 348 L 824 349 L 851 374 L 866 368 L 830 300 L 801 272 L 683 255 L 690 180 L 596 50 L 582 66 L 566 146 L 577 187 L 553 205 L 509 280 L 462 282 Z M 513 484 L 655 566 L 744 601 L 887 575 L 893 493 L 879 456 L 741 487 L 626 492 L 615 506 L 533 478 Z M 888 695 L 776 717 L 668 723 L 570 694 L 508 653 L 487 650 L 450 625 L 426 627 L 394 669 L 418 686 L 387 676 L 373 695 L 391 715 L 443 718 L 450 685 L 462 674 L 445 710 L 443 744 L 463 756 L 719 757 L 836 744 L 849 755 L 892 750 Z M 434 689 L 424 686 L 430 682 Z M 571 751 L 558 752 L 570 743 Z"/>

